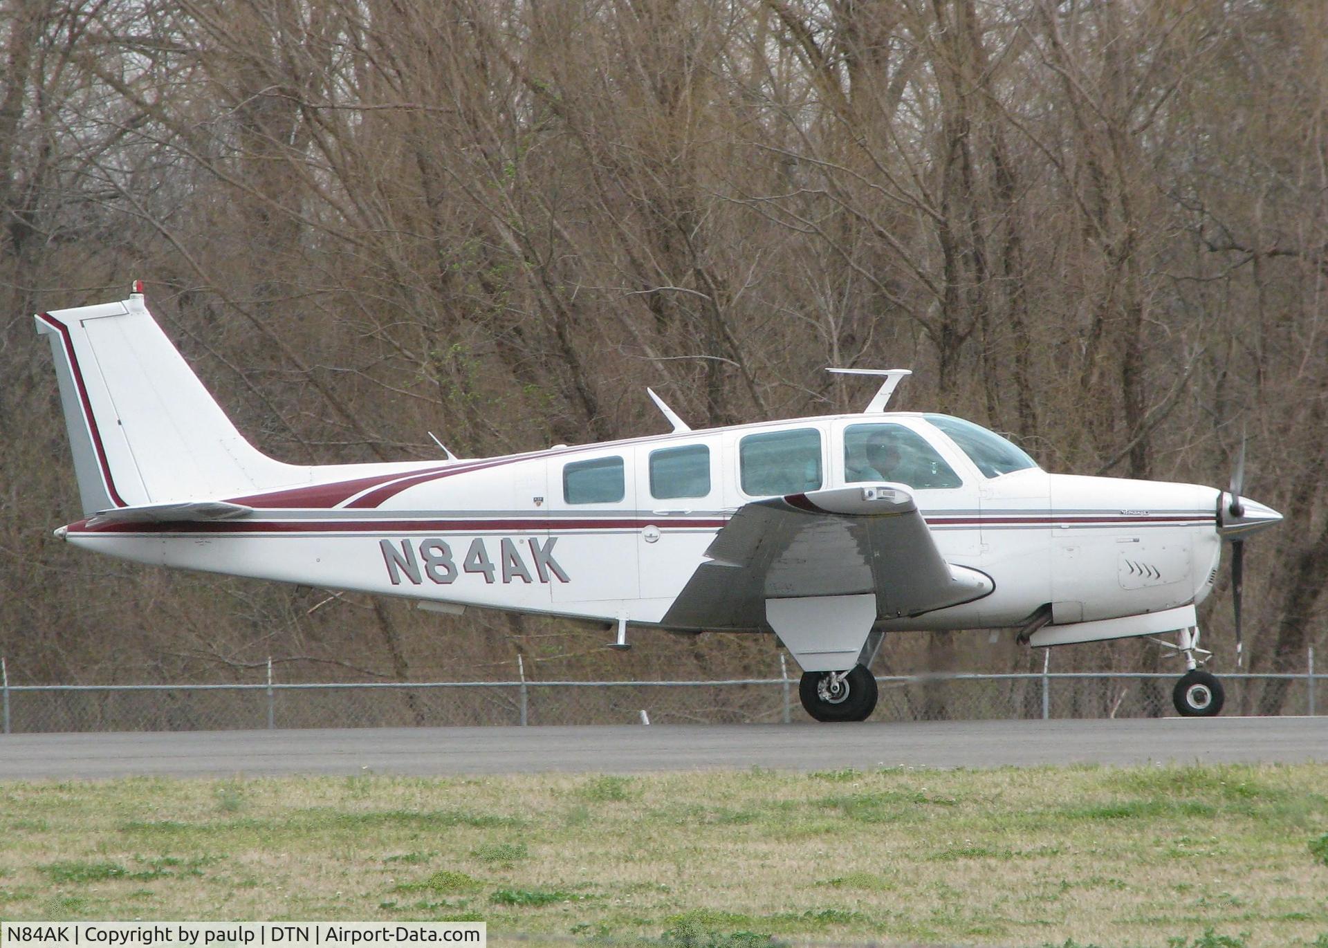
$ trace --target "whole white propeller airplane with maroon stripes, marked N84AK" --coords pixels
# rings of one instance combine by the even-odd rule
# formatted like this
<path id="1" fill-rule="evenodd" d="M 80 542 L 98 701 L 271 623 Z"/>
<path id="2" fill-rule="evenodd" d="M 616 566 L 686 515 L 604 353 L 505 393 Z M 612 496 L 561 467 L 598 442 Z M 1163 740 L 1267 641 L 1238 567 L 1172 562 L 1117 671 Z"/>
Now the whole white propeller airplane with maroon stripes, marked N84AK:
<path id="1" fill-rule="evenodd" d="M 944 414 L 689 429 L 506 457 L 296 466 L 235 429 L 143 301 L 36 316 L 84 519 L 56 535 L 139 563 L 675 632 L 774 632 L 818 721 L 862 721 L 894 631 L 1019 629 L 1033 647 L 1155 636 L 1177 710 L 1222 709 L 1195 605 L 1222 540 L 1282 515 L 1199 485 L 1048 474 Z M 847 372 L 846 369 L 833 369 Z"/>

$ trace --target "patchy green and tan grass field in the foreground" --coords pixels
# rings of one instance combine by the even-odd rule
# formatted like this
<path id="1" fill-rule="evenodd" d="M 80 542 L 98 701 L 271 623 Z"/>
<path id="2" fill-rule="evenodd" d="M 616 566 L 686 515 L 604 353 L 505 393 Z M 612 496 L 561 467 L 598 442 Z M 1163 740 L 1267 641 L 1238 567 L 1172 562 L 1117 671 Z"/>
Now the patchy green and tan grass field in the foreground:
<path id="1" fill-rule="evenodd" d="M 0 783 L 0 917 L 1328 948 L 1325 794 L 1324 765 Z"/>

